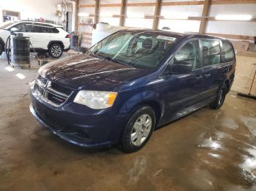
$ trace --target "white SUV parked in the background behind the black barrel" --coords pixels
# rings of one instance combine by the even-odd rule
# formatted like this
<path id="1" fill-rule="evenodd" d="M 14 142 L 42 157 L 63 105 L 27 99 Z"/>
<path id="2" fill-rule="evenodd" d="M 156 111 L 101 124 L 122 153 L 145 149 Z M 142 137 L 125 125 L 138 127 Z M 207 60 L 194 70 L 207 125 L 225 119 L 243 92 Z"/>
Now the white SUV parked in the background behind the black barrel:
<path id="1" fill-rule="evenodd" d="M 31 52 L 49 52 L 53 58 L 59 58 L 70 47 L 70 35 L 61 26 L 35 21 L 8 22 L 0 25 L 0 55 L 11 30 L 29 36 Z"/>

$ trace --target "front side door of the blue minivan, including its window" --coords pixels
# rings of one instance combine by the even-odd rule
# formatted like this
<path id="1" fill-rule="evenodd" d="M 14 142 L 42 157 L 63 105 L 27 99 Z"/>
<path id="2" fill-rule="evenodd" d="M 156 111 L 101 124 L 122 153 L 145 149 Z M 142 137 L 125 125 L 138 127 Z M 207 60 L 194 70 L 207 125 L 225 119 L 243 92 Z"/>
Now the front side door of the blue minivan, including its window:
<path id="1" fill-rule="evenodd" d="M 173 56 L 170 66 L 180 61 L 192 65 L 192 71 L 189 74 L 165 72 L 167 75 L 164 74 L 162 88 L 165 90 L 163 95 L 167 120 L 186 114 L 187 108 L 202 101 L 200 93 L 203 93 L 203 69 L 200 66 L 198 39 L 181 45 L 181 48 Z"/>

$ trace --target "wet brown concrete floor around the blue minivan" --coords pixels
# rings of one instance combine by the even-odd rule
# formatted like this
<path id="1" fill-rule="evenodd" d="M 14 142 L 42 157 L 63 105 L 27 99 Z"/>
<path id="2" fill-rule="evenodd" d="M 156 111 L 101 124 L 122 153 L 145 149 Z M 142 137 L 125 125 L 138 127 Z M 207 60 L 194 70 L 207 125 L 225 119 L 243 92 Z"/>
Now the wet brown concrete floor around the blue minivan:
<path id="1" fill-rule="evenodd" d="M 133 154 L 83 149 L 29 113 L 37 70 L 6 66 L 0 60 L 0 190 L 256 190 L 255 100 L 229 93 L 222 109 L 156 130 Z"/>

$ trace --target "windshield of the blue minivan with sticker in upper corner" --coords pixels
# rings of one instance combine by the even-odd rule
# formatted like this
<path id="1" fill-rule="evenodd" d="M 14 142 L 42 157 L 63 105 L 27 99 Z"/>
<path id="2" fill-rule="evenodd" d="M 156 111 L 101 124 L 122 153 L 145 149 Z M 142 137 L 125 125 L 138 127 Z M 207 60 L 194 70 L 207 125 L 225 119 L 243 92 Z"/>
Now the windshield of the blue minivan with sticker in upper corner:
<path id="1" fill-rule="evenodd" d="M 148 31 L 118 31 L 95 44 L 89 50 L 95 56 L 106 58 L 139 69 L 156 69 L 176 41 Z"/>

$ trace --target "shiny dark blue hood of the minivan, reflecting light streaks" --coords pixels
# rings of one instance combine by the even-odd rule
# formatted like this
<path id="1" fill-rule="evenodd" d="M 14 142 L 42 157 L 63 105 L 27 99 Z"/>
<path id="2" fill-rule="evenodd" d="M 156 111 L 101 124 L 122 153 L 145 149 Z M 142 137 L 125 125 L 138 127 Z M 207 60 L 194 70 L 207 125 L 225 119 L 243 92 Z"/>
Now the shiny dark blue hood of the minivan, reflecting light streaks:
<path id="1" fill-rule="evenodd" d="M 51 81 L 86 90 L 115 90 L 149 73 L 147 70 L 86 54 L 62 58 L 39 69 L 39 74 Z"/>

